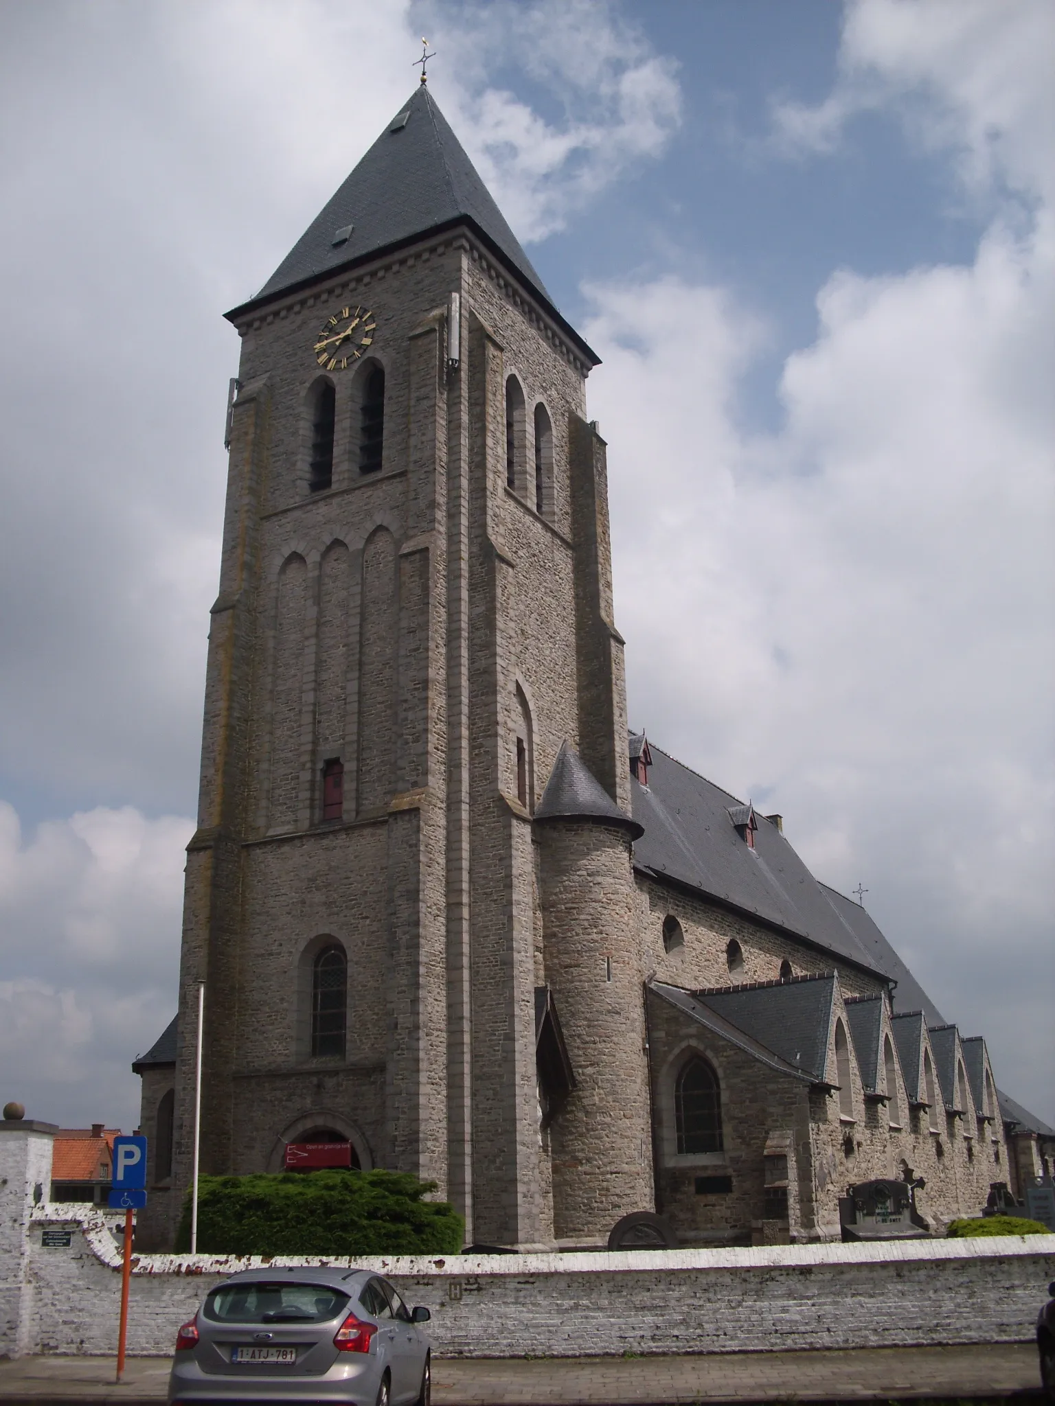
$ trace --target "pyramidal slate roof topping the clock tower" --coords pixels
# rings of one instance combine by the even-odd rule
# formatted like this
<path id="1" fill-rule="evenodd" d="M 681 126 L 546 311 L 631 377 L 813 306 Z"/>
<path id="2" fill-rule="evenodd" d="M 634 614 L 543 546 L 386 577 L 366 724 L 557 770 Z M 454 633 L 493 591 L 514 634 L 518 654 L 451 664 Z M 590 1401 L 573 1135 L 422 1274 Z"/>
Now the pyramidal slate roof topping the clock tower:
<path id="1" fill-rule="evenodd" d="M 419 84 L 252 304 L 466 221 L 551 304 L 436 100 Z"/>

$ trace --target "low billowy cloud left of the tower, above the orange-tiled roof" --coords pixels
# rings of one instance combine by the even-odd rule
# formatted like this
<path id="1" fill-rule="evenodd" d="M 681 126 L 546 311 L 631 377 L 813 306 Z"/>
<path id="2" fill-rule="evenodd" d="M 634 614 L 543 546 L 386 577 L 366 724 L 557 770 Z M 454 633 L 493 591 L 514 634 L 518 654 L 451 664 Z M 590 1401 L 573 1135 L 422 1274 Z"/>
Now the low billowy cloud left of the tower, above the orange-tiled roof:
<path id="1" fill-rule="evenodd" d="M 129 1066 L 174 1014 L 193 828 L 98 807 L 23 842 L 0 801 L 3 1101 L 63 1125 L 138 1121 Z"/>

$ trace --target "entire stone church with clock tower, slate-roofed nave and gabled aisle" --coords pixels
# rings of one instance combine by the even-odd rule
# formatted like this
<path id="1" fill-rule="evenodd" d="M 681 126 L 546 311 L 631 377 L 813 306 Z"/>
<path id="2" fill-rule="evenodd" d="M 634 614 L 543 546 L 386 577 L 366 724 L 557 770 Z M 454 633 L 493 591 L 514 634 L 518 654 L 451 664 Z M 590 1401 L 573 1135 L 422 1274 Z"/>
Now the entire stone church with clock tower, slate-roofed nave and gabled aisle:
<path id="1" fill-rule="evenodd" d="M 436 1182 L 467 1244 L 605 1246 L 639 1212 L 686 1246 L 830 1240 L 872 1178 L 941 1232 L 1018 1189 L 983 1038 L 781 815 L 629 728 L 598 357 L 423 80 L 226 316 L 142 1247 L 191 1178 L 203 984 L 203 1173 L 343 1144 Z"/>

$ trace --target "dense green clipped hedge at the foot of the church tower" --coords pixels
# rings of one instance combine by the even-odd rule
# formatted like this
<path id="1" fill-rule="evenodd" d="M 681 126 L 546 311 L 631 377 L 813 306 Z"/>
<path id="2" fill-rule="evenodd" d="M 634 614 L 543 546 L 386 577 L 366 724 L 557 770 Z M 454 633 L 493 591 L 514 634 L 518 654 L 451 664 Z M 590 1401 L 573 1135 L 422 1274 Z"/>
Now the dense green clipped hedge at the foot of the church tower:
<path id="1" fill-rule="evenodd" d="M 201 1254 L 457 1254 L 464 1220 L 425 1201 L 433 1181 L 401 1171 L 201 1177 Z M 190 1250 L 190 1194 L 176 1236 Z"/>

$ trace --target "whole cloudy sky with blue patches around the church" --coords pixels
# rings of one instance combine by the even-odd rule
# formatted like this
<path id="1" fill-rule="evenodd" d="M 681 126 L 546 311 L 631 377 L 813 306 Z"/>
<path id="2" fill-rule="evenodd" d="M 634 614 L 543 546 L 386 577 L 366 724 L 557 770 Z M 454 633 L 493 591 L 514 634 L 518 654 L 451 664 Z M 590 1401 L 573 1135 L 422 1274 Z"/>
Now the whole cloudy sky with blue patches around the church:
<path id="1" fill-rule="evenodd" d="M 630 717 L 1055 1122 L 1049 0 L 0 0 L 0 1097 L 176 1004 L 224 402 L 430 89 L 603 357 Z"/>

